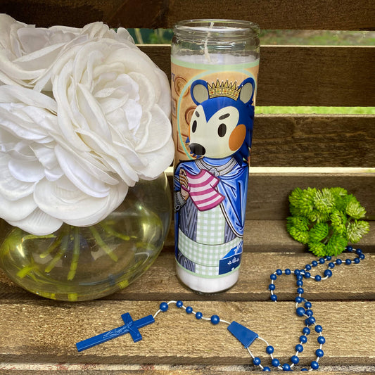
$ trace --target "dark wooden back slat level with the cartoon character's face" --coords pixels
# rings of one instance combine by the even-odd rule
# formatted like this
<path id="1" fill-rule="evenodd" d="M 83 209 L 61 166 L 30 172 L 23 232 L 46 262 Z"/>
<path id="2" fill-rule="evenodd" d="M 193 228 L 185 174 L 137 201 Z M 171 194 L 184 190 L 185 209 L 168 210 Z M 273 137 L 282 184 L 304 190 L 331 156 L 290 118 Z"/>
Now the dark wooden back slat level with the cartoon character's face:
<path id="1" fill-rule="evenodd" d="M 256 115 L 253 166 L 374 167 L 374 115 Z"/>

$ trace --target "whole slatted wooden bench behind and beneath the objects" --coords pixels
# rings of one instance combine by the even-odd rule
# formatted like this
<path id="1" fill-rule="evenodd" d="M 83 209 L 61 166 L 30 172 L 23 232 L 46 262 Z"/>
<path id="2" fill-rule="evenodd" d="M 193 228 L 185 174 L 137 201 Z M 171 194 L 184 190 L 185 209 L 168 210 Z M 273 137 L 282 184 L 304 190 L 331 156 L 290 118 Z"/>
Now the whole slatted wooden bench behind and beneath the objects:
<path id="1" fill-rule="evenodd" d="M 188 18 L 252 20 L 262 29 L 375 30 L 371 0 L 3 0 L 0 12 L 39 27 L 103 20 L 111 27 L 172 27 Z M 262 46 L 258 106 L 375 106 L 374 46 Z M 170 46 L 141 46 L 170 75 Z M 255 110 L 256 114 L 256 110 Z M 375 371 L 375 117 L 374 115 L 256 115 L 248 192 L 245 254 L 238 284 L 226 293 L 191 293 L 174 276 L 172 231 L 154 265 L 118 293 L 85 303 L 38 298 L 0 272 L 0 373 L 14 374 L 245 374 L 259 370 L 226 329 L 170 307 L 129 335 L 78 353 L 75 343 L 139 319 L 163 300 L 183 300 L 205 316 L 236 320 L 274 345 L 281 363 L 294 354 L 301 329 L 295 283 L 269 275 L 314 260 L 285 229 L 288 193 L 297 186 L 342 186 L 367 208 L 371 231 L 360 243 L 360 265 L 336 267 L 322 283 L 305 282 L 314 316 L 324 326 L 327 374 Z M 302 167 L 298 170 L 286 167 Z M 312 168 L 313 167 L 313 168 Z M 371 169 L 372 168 L 372 169 Z M 317 345 L 300 364 L 309 367 Z M 267 361 L 265 345 L 251 350 Z M 13 369 L 13 371 L 10 371 Z M 34 371 L 32 371 L 34 370 Z"/>

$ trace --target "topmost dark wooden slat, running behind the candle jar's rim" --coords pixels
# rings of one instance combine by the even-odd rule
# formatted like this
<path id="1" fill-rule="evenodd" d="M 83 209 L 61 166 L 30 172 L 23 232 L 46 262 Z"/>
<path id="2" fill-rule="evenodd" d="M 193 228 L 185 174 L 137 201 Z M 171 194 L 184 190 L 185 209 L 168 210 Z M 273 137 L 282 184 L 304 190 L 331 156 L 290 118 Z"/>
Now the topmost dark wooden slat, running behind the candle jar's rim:
<path id="1" fill-rule="evenodd" d="M 251 20 L 263 29 L 375 30 L 371 0 L 3 0 L 0 11 L 38 26 L 71 25 L 103 20 L 111 27 L 172 27 L 190 18 Z"/>

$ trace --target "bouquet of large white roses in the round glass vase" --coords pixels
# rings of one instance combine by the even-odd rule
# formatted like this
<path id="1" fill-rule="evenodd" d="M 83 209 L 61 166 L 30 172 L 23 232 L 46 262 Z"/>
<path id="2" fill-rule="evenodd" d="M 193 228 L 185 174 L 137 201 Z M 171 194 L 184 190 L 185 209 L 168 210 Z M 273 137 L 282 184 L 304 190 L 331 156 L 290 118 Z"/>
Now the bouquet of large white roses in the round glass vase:
<path id="1" fill-rule="evenodd" d="M 169 116 L 167 77 L 127 30 L 0 15 L 0 217 L 13 226 L 103 220 L 170 165 Z"/>

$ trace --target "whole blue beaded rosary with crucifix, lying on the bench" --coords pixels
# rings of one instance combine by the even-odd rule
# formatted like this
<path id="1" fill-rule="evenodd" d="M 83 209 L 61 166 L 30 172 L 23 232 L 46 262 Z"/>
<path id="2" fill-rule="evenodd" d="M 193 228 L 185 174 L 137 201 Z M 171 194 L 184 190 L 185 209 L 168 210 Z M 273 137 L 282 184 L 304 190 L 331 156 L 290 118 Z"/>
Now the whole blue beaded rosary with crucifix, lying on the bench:
<path id="1" fill-rule="evenodd" d="M 271 357 L 272 367 L 275 369 L 280 369 L 283 371 L 291 371 L 295 364 L 300 362 L 298 357 L 300 352 L 303 352 L 303 344 L 307 343 L 307 337 L 310 335 L 312 331 L 312 327 L 314 331 L 318 334 L 317 343 L 319 344 L 319 348 L 315 351 L 315 355 L 317 355 L 316 360 L 313 360 L 310 363 L 310 371 L 316 370 L 319 368 L 319 360 L 324 356 L 324 351 L 322 347 L 326 342 L 326 339 L 322 335 L 323 328 L 321 325 L 317 324 L 316 319 L 314 318 L 314 313 L 312 312 L 312 303 L 310 303 L 306 298 L 303 298 L 303 279 L 314 279 L 315 281 L 322 281 L 325 279 L 329 279 L 332 276 L 332 269 L 336 267 L 336 265 L 352 265 L 358 264 L 361 260 L 364 259 L 364 254 L 362 253 L 361 249 L 353 249 L 351 246 L 347 246 L 345 250 L 348 253 L 355 253 L 356 257 L 354 259 L 346 259 L 341 260 L 337 258 L 335 261 L 331 261 L 332 258 L 330 256 L 326 256 L 325 258 L 320 258 L 319 260 L 313 260 L 310 265 L 305 265 L 304 269 L 295 269 L 294 272 L 291 272 L 291 269 L 277 269 L 273 274 L 271 274 L 271 284 L 269 284 L 268 288 L 271 293 L 270 299 L 274 302 L 277 302 L 277 295 L 275 293 L 276 286 L 274 281 L 277 280 L 277 277 L 281 276 L 282 274 L 290 275 L 294 274 L 296 278 L 297 284 L 297 297 L 295 297 L 295 312 L 301 319 L 305 318 L 304 320 L 304 328 L 302 330 L 303 335 L 299 337 L 300 343 L 295 345 L 295 355 L 291 356 L 291 364 L 284 363 L 281 364 L 277 357 L 274 357 L 274 348 L 267 343 L 264 338 L 258 336 L 258 333 L 251 331 L 250 329 L 246 328 L 245 326 L 237 323 L 237 322 L 227 322 L 224 319 L 221 319 L 217 315 L 212 315 L 211 317 L 203 317 L 202 312 L 194 312 L 193 307 L 191 306 L 184 306 L 184 303 L 181 300 L 171 300 L 168 303 L 163 302 L 160 303 L 159 310 L 155 312 L 154 315 L 148 315 L 147 317 L 143 317 L 139 320 L 133 321 L 132 317 L 130 316 L 129 312 L 126 314 L 122 314 L 122 320 L 124 321 L 124 325 L 120 326 L 119 328 L 112 329 L 108 332 L 101 333 L 98 336 L 94 336 L 88 338 L 87 340 L 80 341 L 77 343 L 77 350 L 81 352 L 82 350 L 91 348 L 95 345 L 105 343 L 106 341 L 122 336 L 125 333 L 130 333 L 134 343 L 140 341 L 142 339 L 141 333 L 139 333 L 139 329 L 155 322 L 155 317 L 160 314 L 160 312 L 166 312 L 169 308 L 170 304 L 175 304 L 179 309 L 184 309 L 186 314 L 193 314 L 195 315 L 196 319 L 203 319 L 210 321 L 212 324 L 217 325 L 219 323 L 227 324 L 227 329 L 231 334 L 241 342 L 241 344 L 248 350 L 250 357 L 253 358 L 253 364 L 255 366 L 259 366 L 262 371 L 271 371 L 271 367 L 263 366 L 259 357 L 255 357 L 253 353 L 250 351 L 249 346 L 256 340 L 261 340 L 265 342 L 266 345 L 266 352 Z M 318 265 L 324 265 L 328 262 L 328 267 L 324 271 L 324 277 L 319 274 L 312 275 L 310 271 L 317 267 Z M 303 307 L 302 305 L 303 304 Z M 301 371 L 308 371 L 307 368 L 301 369 Z"/>

